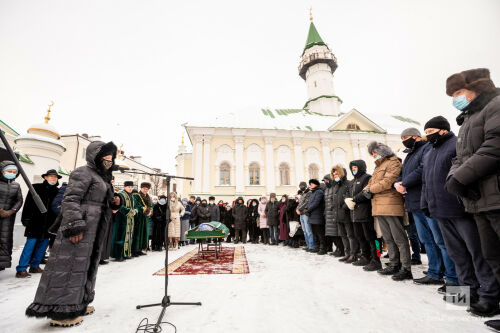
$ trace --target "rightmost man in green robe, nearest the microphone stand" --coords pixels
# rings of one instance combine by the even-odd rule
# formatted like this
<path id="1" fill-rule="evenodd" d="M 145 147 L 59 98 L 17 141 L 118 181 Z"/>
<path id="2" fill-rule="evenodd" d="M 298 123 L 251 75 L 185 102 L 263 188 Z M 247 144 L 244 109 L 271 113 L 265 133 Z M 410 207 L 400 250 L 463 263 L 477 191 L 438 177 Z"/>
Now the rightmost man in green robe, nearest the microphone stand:
<path id="1" fill-rule="evenodd" d="M 143 250 L 149 247 L 148 237 L 148 216 L 153 213 L 151 209 L 151 197 L 148 192 L 151 188 L 150 183 L 142 183 L 139 193 L 134 194 L 134 207 L 137 210 L 134 224 L 134 236 L 132 241 L 132 256 L 138 257 L 145 255 Z"/>

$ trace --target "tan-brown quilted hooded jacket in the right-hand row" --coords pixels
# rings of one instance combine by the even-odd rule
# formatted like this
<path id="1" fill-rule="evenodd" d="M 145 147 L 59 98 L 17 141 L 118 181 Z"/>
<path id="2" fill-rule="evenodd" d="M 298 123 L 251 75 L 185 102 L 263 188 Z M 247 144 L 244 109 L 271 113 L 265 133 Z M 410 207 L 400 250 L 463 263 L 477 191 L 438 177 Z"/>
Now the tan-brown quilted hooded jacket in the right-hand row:
<path id="1" fill-rule="evenodd" d="M 377 152 L 382 158 L 375 161 L 375 170 L 366 190 L 372 197 L 373 216 L 404 216 L 403 196 L 394 188 L 394 182 L 401 175 L 401 160 L 392 149 L 384 144 L 372 142 L 368 152 Z"/>

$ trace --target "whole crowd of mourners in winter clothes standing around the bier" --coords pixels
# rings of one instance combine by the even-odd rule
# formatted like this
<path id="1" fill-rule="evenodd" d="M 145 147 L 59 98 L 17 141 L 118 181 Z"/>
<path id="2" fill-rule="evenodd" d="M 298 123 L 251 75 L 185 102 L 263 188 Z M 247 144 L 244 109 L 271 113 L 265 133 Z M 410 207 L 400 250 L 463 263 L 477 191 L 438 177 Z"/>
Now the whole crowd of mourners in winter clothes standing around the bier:
<path id="1" fill-rule="evenodd" d="M 193 242 L 186 231 L 211 221 L 230 229 L 227 242 L 329 253 L 394 281 L 439 286 L 445 302 L 455 302 L 452 287 L 466 286 L 467 311 L 500 314 L 500 89 L 487 69 L 474 69 L 450 76 L 446 93 L 460 111 L 458 137 L 447 119 L 434 117 L 424 134 L 417 128 L 401 133 L 404 161 L 386 144 L 372 142 L 367 150 L 373 160 L 353 160 L 347 169 L 335 165 L 323 179 L 301 182 L 297 193 L 279 198 L 276 193 L 246 202 L 238 197 L 216 203 L 213 196 L 187 199 L 176 193 L 157 198 L 148 194 L 149 183 L 137 192 L 133 182 L 115 192 L 116 146 L 91 143 L 87 165 L 74 170 L 68 184 L 58 188 L 55 170 L 35 184 L 47 213 L 39 212 L 31 194 L 26 197 L 21 220 L 27 239 L 16 277 L 42 273 L 26 314 L 49 317 L 56 326 L 80 323 L 94 311 L 89 304 L 99 264 L 148 250 L 175 251 Z M 374 164 L 371 175 L 368 163 Z M 11 265 L 14 216 L 23 197 L 15 164 L 3 161 L 0 170 L 3 270 Z M 50 258 L 42 269 L 47 246 Z M 414 277 L 412 265 L 422 264 L 424 249 L 428 269 Z M 500 320 L 487 325 L 500 330 Z"/>

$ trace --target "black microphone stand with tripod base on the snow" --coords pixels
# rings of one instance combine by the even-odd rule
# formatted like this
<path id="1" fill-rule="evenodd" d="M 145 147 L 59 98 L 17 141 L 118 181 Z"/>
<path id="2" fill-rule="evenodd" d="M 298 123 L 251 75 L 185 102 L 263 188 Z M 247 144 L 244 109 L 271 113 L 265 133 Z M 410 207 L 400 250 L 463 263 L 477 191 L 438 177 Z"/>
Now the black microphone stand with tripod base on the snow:
<path id="1" fill-rule="evenodd" d="M 135 171 L 123 171 L 123 172 L 165 177 L 166 182 L 167 182 L 167 198 L 170 197 L 170 180 L 172 178 L 194 180 L 193 178 L 189 178 L 189 177 L 177 177 L 177 176 L 170 176 L 170 175 L 165 175 L 165 174 L 158 175 L 158 174 L 148 174 L 145 172 L 135 172 Z M 170 200 L 170 198 L 169 198 L 169 200 Z M 167 205 L 168 205 L 168 203 L 167 203 Z M 170 324 L 167 322 L 163 322 L 163 317 L 165 316 L 165 311 L 171 305 L 201 305 L 201 302 L 195 302 L 195 303 L 181 302 L 181 303 L 179 303 L 179 302 L 171 302 L 170 301 L 170 296 L 168 295 L 168 248 L 166 246 L 167 240 L 168 240 L 168 226 L 165 228 L 165 295 L 163 296 L 161 303 L 137 305 L 136 306 L 137 309 L 150 308 L 153 306 L 161 306 L 162 310 L 161 310 L 160 316 L 158 317 L 158 320 L 156 321 L 156 324 L 154 324 L 154 326 L 153 326 L 153 324 L 148 324 L 147 319 L 144 319 L 143 321 L 141 321 L 141 323 L 139 324 L 139 327 L 137 328 L 138 332 L 141 332 L 141 331 L 142 332 L 154 332 L 154 333 L 161 332 L 161 324 L 162 323 Z M 142 324 L 144 321 L 145 321 L 145 324 Z M 173 326 L 172 324 L 170 324 L 170 325 Z"/>

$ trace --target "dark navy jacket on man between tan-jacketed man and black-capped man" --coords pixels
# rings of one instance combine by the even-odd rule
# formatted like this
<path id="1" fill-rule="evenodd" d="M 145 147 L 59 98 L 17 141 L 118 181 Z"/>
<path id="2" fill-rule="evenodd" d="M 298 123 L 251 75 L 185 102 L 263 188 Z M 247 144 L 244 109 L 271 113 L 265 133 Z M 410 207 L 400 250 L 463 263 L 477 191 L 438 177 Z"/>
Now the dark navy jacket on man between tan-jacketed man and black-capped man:
<path id="1" fill-rule="evenodd" d="M 407 212 L 420 211 L 420 197 L 422 194 L 422 160 L 424 155 L 431 149 L 431 145 L 425 141 L 415 142 L 415 146 L 404 150 L 407 153 L 403 162 L 401 176 L 396 182 L 403 182 L 406 187 L 405 208 Z"/>

